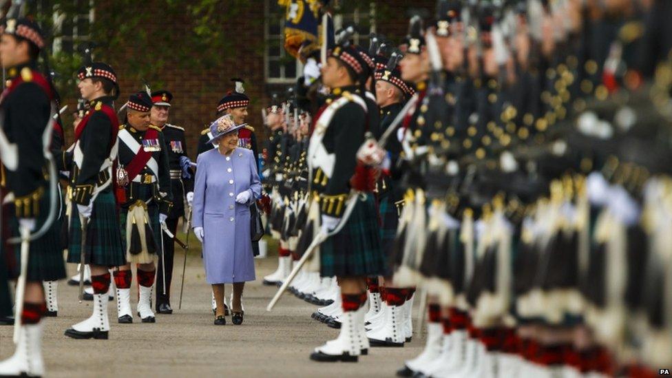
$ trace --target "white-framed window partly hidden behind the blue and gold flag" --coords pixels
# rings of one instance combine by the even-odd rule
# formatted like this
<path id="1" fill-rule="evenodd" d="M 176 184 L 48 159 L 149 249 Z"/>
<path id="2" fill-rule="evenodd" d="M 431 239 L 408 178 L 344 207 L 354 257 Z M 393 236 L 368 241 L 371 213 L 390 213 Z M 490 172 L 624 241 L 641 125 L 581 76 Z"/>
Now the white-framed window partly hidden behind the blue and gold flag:
<path id="1" fill-rule="evenodd" d="M 266 22 L 264 52 L 266 83 L 294 83 L 301 75 L 303 65 L 284 50 L 284 8 L 277 0 L 265 1 Z M 369 33 L 375 32 L 375 3 L 357 4 L 354 10 L 344 10 L 344 14 L 334 16 L 336 30 L 346 23 L 355 23 L 361 34 L 355 35 L 355 43 L 368 46 Z M 336 10 L 339 13 L 339 10 Z M 367 30 L 367 33 L 364 33 Z"/>

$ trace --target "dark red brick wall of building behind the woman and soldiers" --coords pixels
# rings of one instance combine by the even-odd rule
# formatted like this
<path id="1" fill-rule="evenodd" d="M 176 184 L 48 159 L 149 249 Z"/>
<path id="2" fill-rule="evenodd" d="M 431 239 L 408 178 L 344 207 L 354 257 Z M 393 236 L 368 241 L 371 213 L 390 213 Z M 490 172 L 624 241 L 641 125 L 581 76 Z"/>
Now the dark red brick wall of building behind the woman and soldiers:
<path id="1" fill-rule="evenodd" d="M 383 33 L 395 41 L 400 41 L 408 29 L 407 11 L 409 8 L 432 9 L 435 1 L 417 0 L 377 0 L 377 5 L 384 17 L 377 20 L 377 32 Z M 104 2 L 102 2 L 104 4 Z M 150 38 L 165 38 L 169 32 L 174 36 L 191 32 L 191 25 L 186 15 L 178 15 L 166 19 L 160 17 L 162 1 L 149 0 L 143 6 L 143 12 L 155 15 L 148 17 L 143 29 Z M 96 11 L 100 11 L 98 8 Z M 253 0 L 239 17 L 222 24 L 224 35 L 235 41 L 235 50 L 222 51 L 222 61 L 213 62 L 209 70 L 189 70 L 176 68 L 170 62 L 159 68 L 158 77 L 166 83 L 165 88 L 174 94 L 170 122 L 187 129 L 187 145 L 189 154 L 196 158 L 196 146 L 204 125 L 214 119 L 216 105 L 220 98 L 232 89 L 231 77 L 240 76 L 246 81 L 246 94 L 252 99 L 249 108 L 248 123 L 255 127 L 260 140 L 265 138 L 266 131 L 262 125 L 261 109 L 269 103 L 273 86 L 264 81 L 264 6 L 262 0 Z M 179 39 L 176 42 L 179 48 Z M 121 87 L 121 95 L 117 107 L 125 102 L 130 93 L 142 88 L 142 83 L 129 77 L 130 62 L 139 63 L 143 52 L 135 48 L 129 41 L 125 50 L 110 56 L 109 63 L 115 68 Z M 193 59 L 199 59 L 194 56 Z M 151 61 L 146 62 L 152 65 Z M 275 87 L 277 88 L 277 87 Z M 154 90 L 161 88 L 155 87 Z"/>

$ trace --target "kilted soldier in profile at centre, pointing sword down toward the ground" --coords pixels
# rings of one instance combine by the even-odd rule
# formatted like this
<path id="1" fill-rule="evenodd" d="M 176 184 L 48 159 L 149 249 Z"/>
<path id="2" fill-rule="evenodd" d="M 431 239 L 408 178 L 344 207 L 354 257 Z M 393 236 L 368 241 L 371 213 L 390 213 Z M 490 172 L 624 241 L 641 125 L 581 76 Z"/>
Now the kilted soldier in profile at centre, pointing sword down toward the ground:
<path id="1" fill-rule="evenodd" d="M 348 194 L 351 187 L 361 190 L 362 182 L 368 179 L 366 173 L 363 177 L 355 174 L 362 173 L 356 156 L 368 129 L 366 101 L 356 93 L 362 90 L 361 78 L 369 76 L 366 70 L 366 61 L 347 41 L 330 52 L 322 67 L 323 84 L 334 97 L 317 119 L 308 159 L 313 191 L 319 196 L 321 232 L 332 231 L 345 222 L 320 246 L 320 273 L 337 277 L 343 315 L 339 337 L 315 348 L 311 355 L 315 361 L 357 361 L 359 355 L 368 352 L 364 330 L 366 277 L 384 274 L 375 198 L 366 191 L 355 198 Z M 351 200 L 356 201 L 355 207 L 347 219 L 343 218 Z"/>

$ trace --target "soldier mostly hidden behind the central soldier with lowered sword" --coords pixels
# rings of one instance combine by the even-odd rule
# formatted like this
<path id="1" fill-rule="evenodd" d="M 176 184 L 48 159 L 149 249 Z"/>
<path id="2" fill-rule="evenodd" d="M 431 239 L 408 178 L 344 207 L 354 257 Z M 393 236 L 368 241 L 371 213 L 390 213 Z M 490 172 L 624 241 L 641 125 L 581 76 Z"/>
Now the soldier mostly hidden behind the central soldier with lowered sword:
<path id="1" fill-rule="evenodd" d="M 379 133 L 381 135 L 397 118 L 405 99 L 414 94 L 412 85 L 401 80 L 398 66 L 400 59 L 401 54 L 392 53 L 383 68 L 377 70 L 375 74 L 376 99 L 382 116 Z M 401 143 L 397 137 L 397 130 L 388 138 L 386 149 L 389 164 L 383 167 L 376 189 L 381 220 L 381 246 L 384 252 L 391 255 L 403 206 L 402 172 L 398 164 Z M 395 286 L 392 282 L 392 273 L 388 266 L 386 275 L 381 277 L 379 283 L 369 285 L 373 291 L 376 291 L 376 288 L 379 291 L 376 294 L 369 290 L 371 306 L 365 320 L 370 323 L 366 335 L 371 346 L 403 346 L 403 343 L 412 337 L 411 308 L 415 289 Z M 381 290 L 381 287 L 384 288 Z"/>

